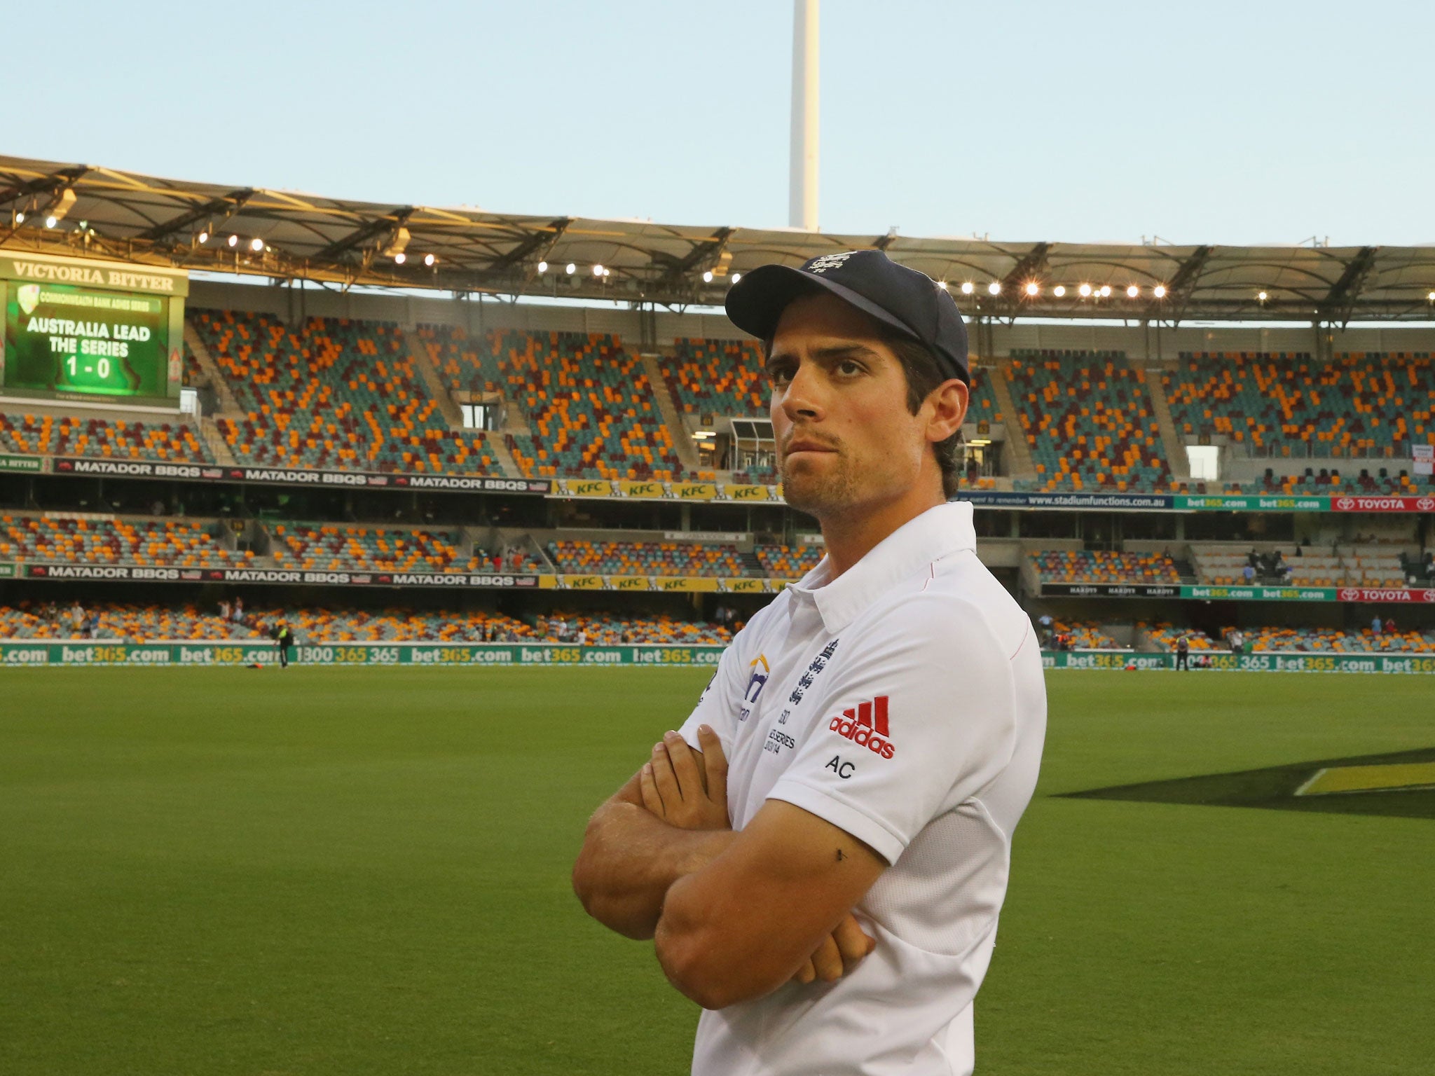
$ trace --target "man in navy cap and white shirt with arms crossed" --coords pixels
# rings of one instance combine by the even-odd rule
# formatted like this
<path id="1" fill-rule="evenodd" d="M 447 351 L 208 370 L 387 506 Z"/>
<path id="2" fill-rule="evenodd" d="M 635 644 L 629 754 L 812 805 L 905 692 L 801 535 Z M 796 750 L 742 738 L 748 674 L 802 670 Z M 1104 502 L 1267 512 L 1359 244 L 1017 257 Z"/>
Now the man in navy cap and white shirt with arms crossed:
<path id="1" fill-rule="evenodd" d="M 949 504 L 966 327 L 880 251 L 728 293 L 827 557 L 594 813 L 588 914 L 705 1010 L 699 1076 L 960 1076 L 1046 727 L 1032 623 Z"/>

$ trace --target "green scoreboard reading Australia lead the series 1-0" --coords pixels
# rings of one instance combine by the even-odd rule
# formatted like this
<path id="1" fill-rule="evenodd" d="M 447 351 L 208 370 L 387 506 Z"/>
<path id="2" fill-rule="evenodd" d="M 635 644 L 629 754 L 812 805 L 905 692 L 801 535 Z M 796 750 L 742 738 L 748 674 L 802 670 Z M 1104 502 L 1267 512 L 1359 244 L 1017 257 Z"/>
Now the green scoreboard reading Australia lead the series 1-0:
<path id="1" fill-rule="evenodd" d="M 6 396 L 178 407 L 182 270 L 0 253 Z"/>

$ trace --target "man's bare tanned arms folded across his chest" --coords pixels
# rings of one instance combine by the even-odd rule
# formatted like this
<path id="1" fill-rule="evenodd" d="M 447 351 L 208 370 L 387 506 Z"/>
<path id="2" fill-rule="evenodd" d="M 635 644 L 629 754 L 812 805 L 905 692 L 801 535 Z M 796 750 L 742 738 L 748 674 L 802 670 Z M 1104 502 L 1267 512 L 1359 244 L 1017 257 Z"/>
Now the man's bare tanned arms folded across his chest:
<path id="1" fill-rule="evenodd" d="M 839 978 L 875 944 L 851 910 L 885 862 L 781 801 L 733 832 L 722 745 L 706 726 L 699 742 L 669 733 L 593 815 L 573 871 L 584 908 L 651 937 L 669 980 L 705 1009 Z"/>

